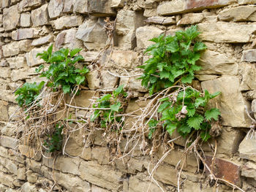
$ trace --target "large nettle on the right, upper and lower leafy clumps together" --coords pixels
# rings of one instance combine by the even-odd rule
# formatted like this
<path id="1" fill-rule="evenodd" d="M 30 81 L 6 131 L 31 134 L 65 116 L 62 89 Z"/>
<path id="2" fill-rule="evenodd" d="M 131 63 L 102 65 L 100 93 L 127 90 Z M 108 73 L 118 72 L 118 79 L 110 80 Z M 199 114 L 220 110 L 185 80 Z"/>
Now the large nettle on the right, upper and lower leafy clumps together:
<path id="1" fill-rule="evenodd" d="M 205 90 L 200 93 L 189 85 L 194 80 L 194 72 L 200 70 L 196 61 L 200 59 L 201 51 L 206 50 L 203 42 L 195 40 L 198 34 L 197 26 L 192 26 L 186 31 L 177 31 L 175 36 L 160 35 L 151 39 L 155 44 L 146 49 L 151 58 L 140 66 L 144 69 L 141 84 L 149 89 L 151 95 L 164 88 L 172 91 L 159 99 L 157 112 L 160 118 L 149 120 L 149 139 L 155 129 L 162 126 L 170 135 L 178 131 L 183 137 L 197 131 L 201 139 L 207 141 L 211 137 L 211 124 L 219 120 L 219 110 L 208 110 L 207 104 L 220 92 L 210 94 Z"/>

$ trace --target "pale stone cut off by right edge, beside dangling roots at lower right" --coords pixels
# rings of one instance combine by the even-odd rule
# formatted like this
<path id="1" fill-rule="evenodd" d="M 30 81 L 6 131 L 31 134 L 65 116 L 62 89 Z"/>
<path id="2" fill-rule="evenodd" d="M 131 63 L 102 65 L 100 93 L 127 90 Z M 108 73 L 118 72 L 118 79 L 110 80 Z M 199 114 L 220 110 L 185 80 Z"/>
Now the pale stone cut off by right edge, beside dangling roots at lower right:
<path id="1" fill-rule="evenodd" d="M 256 162 L 256 139 L 254 134 L 244 137 L 238 149 L 241 158 Z"/>

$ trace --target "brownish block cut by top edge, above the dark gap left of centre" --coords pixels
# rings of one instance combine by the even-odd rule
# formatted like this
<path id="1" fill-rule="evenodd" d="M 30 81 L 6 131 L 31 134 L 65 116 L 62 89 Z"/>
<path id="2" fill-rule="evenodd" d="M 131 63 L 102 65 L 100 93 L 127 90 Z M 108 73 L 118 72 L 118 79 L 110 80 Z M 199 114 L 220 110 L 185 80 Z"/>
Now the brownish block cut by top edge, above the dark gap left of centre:
<path id="1" fill-rule="evenodd" d="M 88 0 L 88 9 L 90 15 L 94 15 L 97 17 L 116 15 L 116 12 L 113 9 L 111 9 L 110 0 Z"/>

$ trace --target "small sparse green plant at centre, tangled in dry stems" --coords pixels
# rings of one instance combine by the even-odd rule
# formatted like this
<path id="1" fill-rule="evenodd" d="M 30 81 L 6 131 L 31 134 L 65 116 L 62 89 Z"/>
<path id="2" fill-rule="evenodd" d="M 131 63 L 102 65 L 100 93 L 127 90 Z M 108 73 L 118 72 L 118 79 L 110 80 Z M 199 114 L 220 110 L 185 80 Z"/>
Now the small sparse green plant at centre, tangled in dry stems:
<path id="1" fill-rule="evenodd" d="M 91 116 L 91 121 L 99 120 L 102 128 L 107 127 L 107 123 L 121 122 L 121 116 L 116 117 L 117 112 L 122 112 L 121 100 L 127 96 L 124 92 L 124 85 L 119 85 L 112 94 L 105 94 L 97 99 L 97 103 L 93 104 L 95 109 L 94 115 Z"/>

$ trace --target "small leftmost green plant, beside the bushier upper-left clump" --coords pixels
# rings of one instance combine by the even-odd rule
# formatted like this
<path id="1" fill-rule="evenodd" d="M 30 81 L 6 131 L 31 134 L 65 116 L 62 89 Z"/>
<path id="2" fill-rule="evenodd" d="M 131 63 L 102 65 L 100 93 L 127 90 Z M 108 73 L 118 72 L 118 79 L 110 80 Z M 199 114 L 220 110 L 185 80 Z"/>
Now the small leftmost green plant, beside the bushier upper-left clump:
<path id="1" fill-rule="evenodd" d="M 31 104 L 31 102 L 37 98 L 43 85 L 45 85 L 44 81 L 40 82 L 38 85 L 37 82 L 25 82 L 21 88 L 18 88 L 17 91 L 15 91 L 15 96 L 18 95 L 18 97 L 15 99 L 18 102 L 18 106 L 29 106 L 29 104 Z"/>

